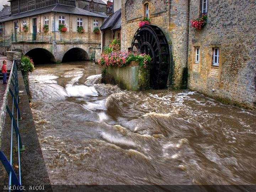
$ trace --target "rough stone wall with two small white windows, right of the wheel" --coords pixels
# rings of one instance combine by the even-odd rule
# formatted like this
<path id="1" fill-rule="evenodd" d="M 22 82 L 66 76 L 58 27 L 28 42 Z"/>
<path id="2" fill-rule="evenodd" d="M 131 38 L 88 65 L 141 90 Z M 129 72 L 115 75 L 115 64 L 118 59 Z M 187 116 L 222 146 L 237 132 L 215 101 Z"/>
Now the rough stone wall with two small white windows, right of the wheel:
<path id="1" fill-rule="evenodd" d="M 189 29 L 189 89 L 256 108 L 255 10 L 255 0 L 208 0 L 207 25 Z M 191 0 L 190 20 L 198 16 L 198 0 Z M 194 62 L 195 46 L 200 47 L 199 64 Z M 212 65 L 214 47 L 220 49 L 219 67 Z"/>

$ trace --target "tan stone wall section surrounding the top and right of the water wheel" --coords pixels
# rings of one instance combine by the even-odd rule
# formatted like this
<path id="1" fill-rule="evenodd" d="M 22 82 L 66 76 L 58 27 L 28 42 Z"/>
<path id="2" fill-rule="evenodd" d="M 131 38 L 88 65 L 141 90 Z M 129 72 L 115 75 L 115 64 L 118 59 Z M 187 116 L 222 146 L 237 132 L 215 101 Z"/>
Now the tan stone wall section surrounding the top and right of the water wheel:
<path id="1" fill-rule="evenodd" d="M 122 50 L 132 44 L 138 23 L 144 17 L 144 4 L 149 3 L 151 25 L 158 26 L 169 42 L 171 59 L 168 86 L 181 88 L 187 66 L 188 1 L 187 0 L 122 0 Z"/>

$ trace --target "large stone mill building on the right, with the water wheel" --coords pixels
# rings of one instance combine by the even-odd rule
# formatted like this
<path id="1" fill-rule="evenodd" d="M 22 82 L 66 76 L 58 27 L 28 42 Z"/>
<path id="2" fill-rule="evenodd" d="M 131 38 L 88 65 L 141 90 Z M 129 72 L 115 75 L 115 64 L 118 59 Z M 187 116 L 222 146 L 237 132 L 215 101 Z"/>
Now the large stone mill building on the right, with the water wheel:
<path id="1" fill-rule="evenodd" d="M 202 13 L 207 24 L 194 30 L 190 21 Z M 150 25 L 139 28 L 145 17 Z M 187 85 L 255 108 L 255 21 L 255 0 L 122 0 L 122 50 L 153 57 L 156 88 Z"/>

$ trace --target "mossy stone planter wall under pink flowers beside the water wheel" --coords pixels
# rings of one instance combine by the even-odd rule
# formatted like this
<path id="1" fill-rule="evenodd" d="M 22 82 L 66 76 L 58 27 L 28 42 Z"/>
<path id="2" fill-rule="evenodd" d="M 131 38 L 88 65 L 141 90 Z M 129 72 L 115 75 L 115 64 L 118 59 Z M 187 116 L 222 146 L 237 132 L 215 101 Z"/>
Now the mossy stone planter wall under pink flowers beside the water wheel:
<path id="1" fill-rule="evenodd" d="M 102 67 L 102 82 L 119 85 L 130 91 L 142 91 L 150 88 L 149 69 L 140 67 L 138 62 L 132 61 L 126 67 Z"/>

